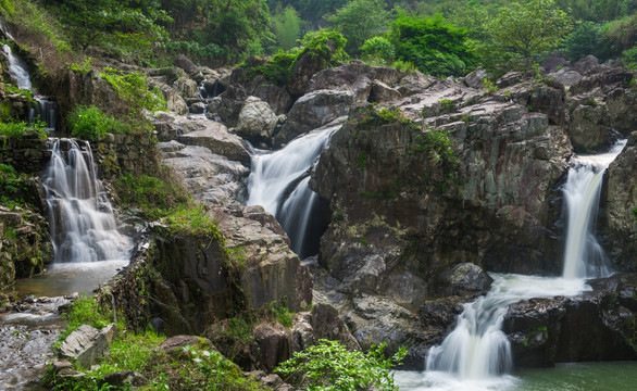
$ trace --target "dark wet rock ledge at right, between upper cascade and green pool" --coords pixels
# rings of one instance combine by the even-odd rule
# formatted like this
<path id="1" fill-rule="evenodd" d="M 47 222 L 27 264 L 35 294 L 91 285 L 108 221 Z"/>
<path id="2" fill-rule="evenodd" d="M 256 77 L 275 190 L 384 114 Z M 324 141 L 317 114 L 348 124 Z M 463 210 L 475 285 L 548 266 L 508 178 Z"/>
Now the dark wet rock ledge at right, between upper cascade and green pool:
<path id="1" fill-rule="evenodd" d="M 637 360 L 636 277 L 591 281 L 594 291 L 576 298 L 511 305 L 502 330 L 511 341 L 515 365 Z"/>

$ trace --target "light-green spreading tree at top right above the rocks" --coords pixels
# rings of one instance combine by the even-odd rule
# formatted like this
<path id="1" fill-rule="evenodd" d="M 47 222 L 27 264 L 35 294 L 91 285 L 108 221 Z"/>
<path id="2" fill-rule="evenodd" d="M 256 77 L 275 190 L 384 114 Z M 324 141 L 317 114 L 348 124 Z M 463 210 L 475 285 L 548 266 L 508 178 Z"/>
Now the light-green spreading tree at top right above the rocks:
<path id="1" fill-rule="evenodd" d="M 492 43 L 521 55 L 527 70 L 539 54 L 558 48 L 571 28 L 571 20 L 553 0 L 530 0 L 525 4 L 513 2 L 503 8 L 489 25 Z"/>

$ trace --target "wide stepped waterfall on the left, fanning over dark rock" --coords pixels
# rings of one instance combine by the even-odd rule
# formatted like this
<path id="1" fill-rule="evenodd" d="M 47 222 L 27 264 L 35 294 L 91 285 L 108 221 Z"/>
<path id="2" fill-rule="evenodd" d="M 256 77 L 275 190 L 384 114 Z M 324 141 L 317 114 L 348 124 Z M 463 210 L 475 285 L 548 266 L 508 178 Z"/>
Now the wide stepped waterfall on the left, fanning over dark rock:
<path id="1" fill-rule="evenodd" d="M 88 142 L 52 141 L 43 176 L 55 263 L 127 260 L 130 239 L 117 225 Z"/>

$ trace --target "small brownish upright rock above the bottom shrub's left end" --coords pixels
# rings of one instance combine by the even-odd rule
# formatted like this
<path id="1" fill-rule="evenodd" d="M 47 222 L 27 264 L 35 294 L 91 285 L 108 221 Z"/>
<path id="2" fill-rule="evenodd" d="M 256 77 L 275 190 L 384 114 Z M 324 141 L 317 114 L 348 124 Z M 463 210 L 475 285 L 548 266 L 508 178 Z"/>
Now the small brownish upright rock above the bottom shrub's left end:
<path id="1" fill-rule="evenodd" d="M 252 333 L 254 342 L 259 346 L 259 350 L 253 354 L 265 370 L 272 371 L 277 364 L 291 356 L 287 331 L 279 324 L 274 326 L 260 324 L 254 327 Z"/>

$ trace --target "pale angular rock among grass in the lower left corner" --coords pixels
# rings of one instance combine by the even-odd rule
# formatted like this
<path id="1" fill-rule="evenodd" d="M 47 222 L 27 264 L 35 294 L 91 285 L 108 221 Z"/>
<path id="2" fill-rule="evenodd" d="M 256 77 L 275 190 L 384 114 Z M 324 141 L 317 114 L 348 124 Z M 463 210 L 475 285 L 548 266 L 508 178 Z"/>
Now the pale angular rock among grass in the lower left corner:
<path id="1" fill-rule="evenodd" d="M 62 342 L 60 355 L 76 360 L 83 367 L 90 367 L 104 355 L 107 348 L 103 333 L 92 326 L 83 325 Z"/>

